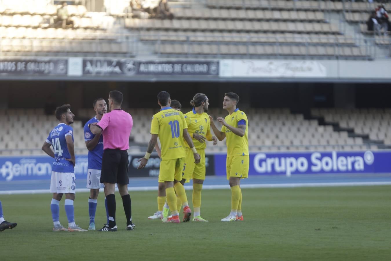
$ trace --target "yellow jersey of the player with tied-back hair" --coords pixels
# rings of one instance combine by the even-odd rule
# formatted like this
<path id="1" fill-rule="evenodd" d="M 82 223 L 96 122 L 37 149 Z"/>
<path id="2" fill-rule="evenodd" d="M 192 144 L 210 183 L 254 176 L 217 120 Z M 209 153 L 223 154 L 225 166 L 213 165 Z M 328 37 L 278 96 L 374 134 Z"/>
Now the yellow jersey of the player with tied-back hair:
<path id="1" fill-rule="evenodd" d="M 187 123 L 187 131 L 190 134 L 190 137 L 193 137 L 193 133 L 197 133 L 206 137 L 207 140 L 212 140 L 212 134 L 210 133 L 210 119 L 207 113 L 197 113 L 194 108 L 190 112 L 185 114 L 185 120 Z M 193 139 L 194 147 L 196 149 L 206 148 L 206 142 L 199 142 L 198 140 Z M 189 148 L 187 142 L 185 141 L 186 148 Z"/>

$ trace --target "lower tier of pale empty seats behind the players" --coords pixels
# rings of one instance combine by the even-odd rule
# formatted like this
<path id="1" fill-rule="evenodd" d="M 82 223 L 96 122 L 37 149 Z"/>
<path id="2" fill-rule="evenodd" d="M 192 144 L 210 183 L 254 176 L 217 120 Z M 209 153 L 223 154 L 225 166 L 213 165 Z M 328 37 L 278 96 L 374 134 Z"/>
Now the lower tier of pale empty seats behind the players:
<path id="1" fill-rule="evenodd" d="M 188 109 L 190 110 L 190 109 Z M 183 111 L 187 111 L 184 109 Z M 128 109 L 135 124 L 131 133 L 129 151 L 143 151 L 150 139 L 149 127 L 153 109 Z M 251 151 L 305 151 L 378 149 L 376 144 L 391 145 L 391 110 L 361 109 L 312 109 L 312 116 L 324 117 L 326 124 L 317 119 L 304 119 L 303 114 L 292 114 L 289 109 L 249 109 L 249 144 Z M 225 115 L 222 109 L 211 108 L 210 115 Z M 77 111 L 74 122 L 75 151 L 86 154 L 83 123 L 91 117 L 91 109 Z M 48 133 L 56 126 L 54 116 L 44 115 L 42 109 L 0 110 L 1 155 L 43 155 L 39 148 Z M 336 130 L 333 124 L 339 123 Z M 218 124 L 217 124 L 218 125 Z M 220 128 L 220 126 L 218 126 Z M 349 128 L 354 130 L 349 130 Z M 357 135 L 351 135 L 351 134 Z M 368 136 L 368 137 L 367 137 Z M 372 140 L 371 143 L 364 140 Z M 225 141 L 207 147 L 207 152 L 224 152 Z"/>

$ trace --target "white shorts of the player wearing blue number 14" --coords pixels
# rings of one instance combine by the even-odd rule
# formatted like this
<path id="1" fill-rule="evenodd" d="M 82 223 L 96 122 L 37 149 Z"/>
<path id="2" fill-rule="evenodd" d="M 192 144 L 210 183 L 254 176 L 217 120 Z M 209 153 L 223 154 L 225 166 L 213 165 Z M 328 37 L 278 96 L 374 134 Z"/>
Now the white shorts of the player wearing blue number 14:
<path id="1" fill-rule="evenodd" d="M 50 180 L 51 193 L 72 193 L 75 194 L 76 178 L 75 173 L 52 171 Z"/>

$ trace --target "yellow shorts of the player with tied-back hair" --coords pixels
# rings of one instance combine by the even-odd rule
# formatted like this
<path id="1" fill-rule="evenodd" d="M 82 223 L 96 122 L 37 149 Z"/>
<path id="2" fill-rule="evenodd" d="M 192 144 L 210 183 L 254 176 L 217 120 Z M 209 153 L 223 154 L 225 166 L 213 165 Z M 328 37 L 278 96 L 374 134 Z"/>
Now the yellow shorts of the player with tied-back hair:
<path id="1" fill-rule="evenodd" d="M 205 149 L 197 149 L 197 153 L 200 155 L 201 161 L 195 164 L 193 151 L 186 149 L 186 159 L 182 171 L 182 178 L 186 178 L 186 181 L 192 178 L 205 179 Z"/>

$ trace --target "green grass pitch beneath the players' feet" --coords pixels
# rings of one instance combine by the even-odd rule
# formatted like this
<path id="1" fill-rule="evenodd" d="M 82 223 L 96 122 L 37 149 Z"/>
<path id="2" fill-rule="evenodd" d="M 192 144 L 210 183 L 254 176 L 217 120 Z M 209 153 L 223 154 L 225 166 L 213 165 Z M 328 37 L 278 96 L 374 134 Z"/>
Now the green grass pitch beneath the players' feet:
<path id="1" fill-rule="evenodd" d="M 391 186 L 243 189 L 244 222 L 221 222 L 230 190 L 204 190 L 209 223 L 147 220 L 156 191 L 131 192 L 136 230 L 125 230 L 117 193 L 118 232 L 52 232 L 48 194 L 1 195 L 6 220 L 0 260 L 390 260 Z M 191 204 L 191 191 L 187 192 Z M 88 193 L 77 193 L 75 220 L 88 228 Z M 98 199 L 97 228 L 106 220 Z M 60 221 L 68 225 L 64 199 Z"/>

